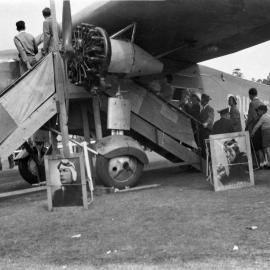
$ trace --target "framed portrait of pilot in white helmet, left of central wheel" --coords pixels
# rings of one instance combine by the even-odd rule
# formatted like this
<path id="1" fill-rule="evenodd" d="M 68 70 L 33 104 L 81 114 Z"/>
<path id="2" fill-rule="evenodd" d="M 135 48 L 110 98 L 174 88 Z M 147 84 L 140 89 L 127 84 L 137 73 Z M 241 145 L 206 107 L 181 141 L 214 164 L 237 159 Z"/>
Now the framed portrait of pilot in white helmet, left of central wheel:
<path id="1" fill-rule="evenodd" d="M 48 209 L 83 206 L 88 208 L 83 154 L 68 159 L 45 156 Z"/>

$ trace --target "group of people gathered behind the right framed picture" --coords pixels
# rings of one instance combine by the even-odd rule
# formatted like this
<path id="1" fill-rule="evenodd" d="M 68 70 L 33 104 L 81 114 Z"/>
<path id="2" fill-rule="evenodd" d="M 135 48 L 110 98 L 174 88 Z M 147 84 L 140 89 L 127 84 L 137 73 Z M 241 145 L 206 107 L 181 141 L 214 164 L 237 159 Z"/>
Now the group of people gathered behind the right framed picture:
<path id="1" fill-rule="evenodd" d="M 258 98 L 256 88 L 249 89 L 248 94 L 250 104 L 245 130 L 250 133 L 260 167 L 270 168 L 270 115 L 267 114 L 267 106 Z M 229 97 L 229 107 L 218 111 L 220 119 L 216 122 L 214 122 L 214 109 L 209 105 L 210 100 L 211 97 L 207 94 L 202 94 L 200 98 L 198 94 L 193 93 L 191 102 L 183 108 L 193 117 L 192 128 L 195 140 L 204 158 L 206 157 L 205 140 L 209 139 L 211 134 L 242 131 L 240 111 L 235 96 Z"/>

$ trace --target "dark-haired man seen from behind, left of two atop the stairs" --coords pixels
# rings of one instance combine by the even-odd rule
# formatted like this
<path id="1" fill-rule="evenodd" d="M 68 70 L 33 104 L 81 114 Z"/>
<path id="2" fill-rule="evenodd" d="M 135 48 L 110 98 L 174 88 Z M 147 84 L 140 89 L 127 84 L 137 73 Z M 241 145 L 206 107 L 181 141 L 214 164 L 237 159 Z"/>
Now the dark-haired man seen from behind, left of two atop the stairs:
<path id="1" fill-rule="evenodd" d="M 16 22 L 16 27 L 19 34 L 14 37 L 14 44 L 19 52 L 20 73 L 22 75 L 36 64 L 35 55 L 38 53 L 38 47 L 35 38 L 25 32 L 24 21 Z"/>

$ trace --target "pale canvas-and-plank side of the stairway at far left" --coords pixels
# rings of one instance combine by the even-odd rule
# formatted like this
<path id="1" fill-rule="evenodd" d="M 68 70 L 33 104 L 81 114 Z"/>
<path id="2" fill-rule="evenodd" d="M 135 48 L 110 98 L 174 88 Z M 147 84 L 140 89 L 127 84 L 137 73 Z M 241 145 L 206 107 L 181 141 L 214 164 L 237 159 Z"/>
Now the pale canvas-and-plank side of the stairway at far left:
<path id="1" fill-rule="evenodd" d="M 57 113 L 49 54 L 0 93 L 0 155 L 7 158 Z"/>

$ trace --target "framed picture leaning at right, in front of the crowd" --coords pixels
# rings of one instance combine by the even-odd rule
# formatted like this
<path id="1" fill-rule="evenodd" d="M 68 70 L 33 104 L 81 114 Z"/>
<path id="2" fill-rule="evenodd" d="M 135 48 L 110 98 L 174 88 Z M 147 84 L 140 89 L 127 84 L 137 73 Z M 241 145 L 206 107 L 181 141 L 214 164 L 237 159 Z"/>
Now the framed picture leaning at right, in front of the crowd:
<path id="1" fill-rule="evenodd" d="M 210 135 L 209 142 L 215 191 L 254 185 L 248 131 Z"/>

